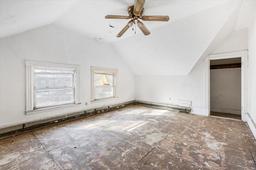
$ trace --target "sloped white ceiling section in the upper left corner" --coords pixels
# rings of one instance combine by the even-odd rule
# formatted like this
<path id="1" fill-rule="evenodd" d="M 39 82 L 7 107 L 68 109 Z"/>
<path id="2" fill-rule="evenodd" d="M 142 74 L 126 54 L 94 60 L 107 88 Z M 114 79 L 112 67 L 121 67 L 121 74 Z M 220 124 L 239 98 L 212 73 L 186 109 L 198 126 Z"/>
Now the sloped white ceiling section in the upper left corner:
<path id="1" fill-rule="evenodd" d="M 66 11 L 74 1 L 1 0 L 0 37 L 8 37 L 48 25 Z"/>

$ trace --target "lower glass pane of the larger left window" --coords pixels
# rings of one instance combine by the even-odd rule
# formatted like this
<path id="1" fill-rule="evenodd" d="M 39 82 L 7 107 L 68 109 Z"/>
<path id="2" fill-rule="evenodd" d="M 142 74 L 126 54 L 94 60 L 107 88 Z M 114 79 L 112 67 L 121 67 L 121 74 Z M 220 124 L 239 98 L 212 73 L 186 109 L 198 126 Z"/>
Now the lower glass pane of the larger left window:
<path id="1" fill-rule="evenodd" d="M 36 106 L 44 107 L 74 102 L 74 89 L 36 90 Z"/>

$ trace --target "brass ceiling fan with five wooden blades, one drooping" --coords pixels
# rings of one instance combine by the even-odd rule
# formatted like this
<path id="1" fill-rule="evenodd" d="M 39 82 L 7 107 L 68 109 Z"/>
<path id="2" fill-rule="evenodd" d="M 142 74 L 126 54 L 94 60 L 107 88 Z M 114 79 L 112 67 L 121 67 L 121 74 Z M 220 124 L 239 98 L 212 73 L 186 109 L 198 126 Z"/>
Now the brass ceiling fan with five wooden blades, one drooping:
<path id="1" fill-rule="evenodd" d="M 127 25 L 116 35 L 116 37 L 121 37 L 125 31 L 130 28 L 133 24 L 136 24 L 140 30 L 144 33 L 144 35 L 149 35 L 150 31 L 148 28 L 141 22 L 139 19 L 143 21 L 169 21 L 169 16 L 142 16 L 143 14 L 143 6 L 145 0 L 135 0 L 134 6 L 130 6 L 128 8 L 129 16 L 115 16 L 115 15 L 107 15 L 105 19 L 132 19 Z"/>

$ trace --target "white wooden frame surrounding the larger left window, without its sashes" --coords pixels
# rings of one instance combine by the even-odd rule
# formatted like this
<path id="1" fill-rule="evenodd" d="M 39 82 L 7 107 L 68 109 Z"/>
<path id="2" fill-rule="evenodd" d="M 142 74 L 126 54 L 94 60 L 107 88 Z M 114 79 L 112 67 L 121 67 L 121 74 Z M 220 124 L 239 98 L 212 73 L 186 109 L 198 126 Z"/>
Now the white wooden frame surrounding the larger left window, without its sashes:
<path id="1" fill-rule="evenodd" d="M 36 111 L 42 109 L 50 109 L 55 107 L 67 106 L 63 104 L 60 106 L 49 106 L 40 109 L 34 108 L 35 103 L 35 90 L 34 90 L 34 70 L 45 69 L 45 70 L 60 70 L 60 71 L 74 71 L 74 104 L 80 104 L 80 66 L 70 64 L 56 64 L 56 63 L 45 63 L 39 61 L 26 61 L 26 111 Z M 69 104 L 69 105 L 74 105 Z"/>

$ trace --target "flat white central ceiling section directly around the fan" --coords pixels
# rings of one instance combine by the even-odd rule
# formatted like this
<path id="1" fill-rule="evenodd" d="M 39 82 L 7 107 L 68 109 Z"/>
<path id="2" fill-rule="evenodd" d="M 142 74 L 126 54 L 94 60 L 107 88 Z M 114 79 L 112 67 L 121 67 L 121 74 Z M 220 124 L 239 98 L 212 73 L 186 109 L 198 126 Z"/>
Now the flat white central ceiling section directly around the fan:
<path id="1" fill-rule="evenodd" d="M 148 0 L 144 4 L 143 15 L 167 15 L 170 16 L 169 22 L 171 22 L 221 3 L 224 3 L 224 1 Z M 104 42 L 119 41 L 135 34 L 130 28 L 122 37 L 116 37 L 130 20 L 104 19 L 104 17 L 106 15 L 128 16 L 128 7 L 133 4 L 134 0 L 77 1 L 53 24 L 80 32 L 89 37 L 102 39 Z M 143 22 L 149 30 L 166 24 L 166 22 L 158 21 Z M 110 27 L 109 24 L 114 28 Z M 140 34 L 141 31 L 137 29 L 136 33 Z"/>

